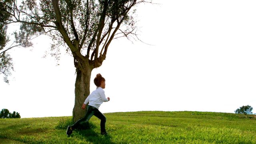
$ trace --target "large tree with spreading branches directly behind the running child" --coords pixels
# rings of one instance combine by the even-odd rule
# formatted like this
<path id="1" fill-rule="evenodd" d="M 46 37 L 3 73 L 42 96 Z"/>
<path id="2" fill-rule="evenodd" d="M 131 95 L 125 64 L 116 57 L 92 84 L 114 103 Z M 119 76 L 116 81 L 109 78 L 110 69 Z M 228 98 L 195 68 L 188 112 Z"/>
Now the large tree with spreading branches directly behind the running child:
<path id="1" fill-rule="evenodd" d="M 6 24 L 20 23 L 14 36 L 17 43 L 31 46 L 32 36 L 46 34 L 74 58 L 76 68 L 73 121 L 84 116 L 81 109 L 90 94 L 90 77 L 102 65 L 108 47 L 115 38 L 136 36 L 132 8 L 145 0 L 1 0 L 0 9 L 11 18 Z M 151 2 L 150 2 L 151 3 Z M 22 41 L 23 40 L 23 41 Z M 54 54 L 58 57 L 58 54 Z"/>

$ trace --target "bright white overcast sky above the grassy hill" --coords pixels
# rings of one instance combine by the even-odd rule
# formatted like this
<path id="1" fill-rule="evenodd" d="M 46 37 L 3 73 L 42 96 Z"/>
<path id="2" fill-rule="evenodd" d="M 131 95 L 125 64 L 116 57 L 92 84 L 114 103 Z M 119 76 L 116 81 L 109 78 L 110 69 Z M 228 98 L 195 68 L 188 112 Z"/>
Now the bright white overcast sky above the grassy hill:
<path id="1" fill-rule="evenodd" d="M 102 66 L 110 102 L 100 111 L 231 112 L 256 109 L 256 1 L 155 0 L 137 7 L 140 39 L 114 40 Z M 22 118 L 72 116 L 75 68 L 62 54 L 42 58 L 50 40 L 10 51 L 15 72 L 0 81 L 0 109 Z M 91 92 L 96 88 L 91 80 Z"/>

